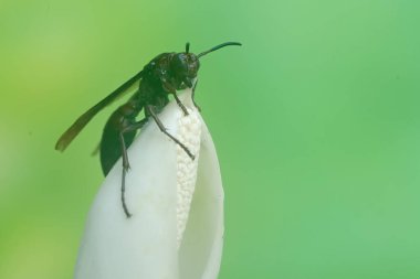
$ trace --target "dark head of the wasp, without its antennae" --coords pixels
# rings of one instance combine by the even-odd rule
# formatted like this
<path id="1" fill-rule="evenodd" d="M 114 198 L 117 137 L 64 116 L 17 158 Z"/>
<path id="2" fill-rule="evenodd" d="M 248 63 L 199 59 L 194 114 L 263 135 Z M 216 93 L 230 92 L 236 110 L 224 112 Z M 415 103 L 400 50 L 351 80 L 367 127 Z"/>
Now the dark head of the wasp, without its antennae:
<path id="1" fill-rule="evenodd" d="M 191 88 L 199 67 L 200 62 L 193 53 L 176 54 L 171 61 L 170 68 L 177 81 L 177 86 L 180 88 L 185 88 L 186 86 Z"/>

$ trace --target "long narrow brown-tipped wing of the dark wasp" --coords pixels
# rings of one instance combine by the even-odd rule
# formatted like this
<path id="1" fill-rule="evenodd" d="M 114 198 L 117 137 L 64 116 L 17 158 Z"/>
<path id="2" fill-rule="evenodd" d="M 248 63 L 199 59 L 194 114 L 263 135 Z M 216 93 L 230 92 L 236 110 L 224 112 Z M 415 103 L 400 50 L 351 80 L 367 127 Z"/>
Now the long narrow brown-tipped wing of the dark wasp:
<path id="1" fill-rule="evenodd" d="M 55 150 L 64 151 L 67 146 L 73 141 L 73 139 L 81 132 L 81 130 L 91 121 L 91 119 L 104 107 L 113 103 L 119 95 L 129 89 L 138 79 L 143 76 L 143 72 L 140 71 L 138 74 L 133 76 L 130 79 L 125 82 L 122 86 L 116 88 L 113 93 L 111 93 L 103 100 L 97 103 L 95 106 L 90 108 L 86 112 L 84 112 L 77 120 L 60 137 L 55 144 Z"/>

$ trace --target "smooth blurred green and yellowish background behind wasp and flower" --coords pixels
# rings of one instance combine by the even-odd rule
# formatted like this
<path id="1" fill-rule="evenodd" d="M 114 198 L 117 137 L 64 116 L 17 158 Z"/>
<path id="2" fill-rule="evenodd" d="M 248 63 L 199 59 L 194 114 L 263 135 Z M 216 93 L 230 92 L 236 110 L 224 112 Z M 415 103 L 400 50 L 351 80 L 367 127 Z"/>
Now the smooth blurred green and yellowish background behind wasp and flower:
<path id="1" fill-rule="evenodd" d="M 206 56 L 221 279 L 420 278 L 420 2 L 0 0 L 0 278 L 72 278 L 98 115 L 155 55 Z"/>

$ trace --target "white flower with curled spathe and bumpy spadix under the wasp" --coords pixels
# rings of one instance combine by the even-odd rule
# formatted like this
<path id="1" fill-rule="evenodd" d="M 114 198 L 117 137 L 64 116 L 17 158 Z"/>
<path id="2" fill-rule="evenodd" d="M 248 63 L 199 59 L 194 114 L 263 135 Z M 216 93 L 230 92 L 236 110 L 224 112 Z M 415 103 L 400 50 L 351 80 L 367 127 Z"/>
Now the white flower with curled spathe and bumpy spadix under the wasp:
<path id="1" fill-rule="evenodd" d="M 195 162 L 190 164 L 183 150 L 181 154 L 149 121 L 128 150 L 132 169 L 126 178 L 126 200 L 133 217 L 125 217 L 120 204 L 118 161 L 90 211 L 76 279 L 217 278 L 223 240 L 223 190 L 214 146 L 190 94 L 186 90 L 180 96 L 192 117 L 190 124 L 182 122 L 185 117 L 176 103 L 159 118 L 177 137 L 182 135 L 179 127 L 191 128 L 185 140 L 192 144 L 193 153 L 198 152 Z M 197 120 L 201 129 L 196 127 Z M 192 137 L 197 130 L 201 135 Z M 188 167 L 180 167 L 180 161 Z M 181 181 L 186 183 L 178 183 Z"/>

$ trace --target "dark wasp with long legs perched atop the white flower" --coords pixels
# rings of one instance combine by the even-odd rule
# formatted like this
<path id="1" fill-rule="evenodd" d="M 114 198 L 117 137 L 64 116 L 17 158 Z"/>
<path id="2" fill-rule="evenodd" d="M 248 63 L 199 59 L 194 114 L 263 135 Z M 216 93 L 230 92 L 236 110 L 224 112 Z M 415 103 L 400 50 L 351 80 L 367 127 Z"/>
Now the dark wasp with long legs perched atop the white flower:
<path id="1" fill-rule="evenodd" d="M 118 107 L 107 120 L 99 146 L 101 165 L 104 175 L 108 174 L 115 162 L 123 157 L 120 198 L 125 215 L 130 217 L 132 214 L 125 202 L 125 175 L 129 169 L 127 148 L 133 143 L 137 130 L 141 129 L 151 117 L 160 131 L 181 147 L 191 160 L 193 160 L 195 155 L 190 150 L 165 129 L 165 126 L 159 120 L 158 114 L 169 103 L 169 95 L 172 95 L 183 114 L 188 115 L 186 107 L 178 99 L 177 90 L 187 87 L 191 88 L 193 86 L 197 72 L 200 67 L 200 57 L 228 45 L 241 45 L 241 43 L 222 43 L 198 55 L 189 52 L 189 43 L 187 43 L 185 52 L 159 54 L 135 76 L 78 117 L 60 137 L 55 149 L 64 151 L 99 110 L 127 92 L 136 82 L 140 81 L 134 95 L 124 105 Z M 197 106 L 195 101 L 193 104 Z M 145 109 L 145 118 L 137 121 L 136 118 L 143 109 Z"/>

